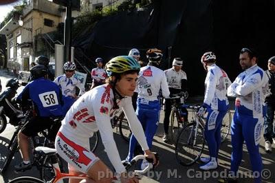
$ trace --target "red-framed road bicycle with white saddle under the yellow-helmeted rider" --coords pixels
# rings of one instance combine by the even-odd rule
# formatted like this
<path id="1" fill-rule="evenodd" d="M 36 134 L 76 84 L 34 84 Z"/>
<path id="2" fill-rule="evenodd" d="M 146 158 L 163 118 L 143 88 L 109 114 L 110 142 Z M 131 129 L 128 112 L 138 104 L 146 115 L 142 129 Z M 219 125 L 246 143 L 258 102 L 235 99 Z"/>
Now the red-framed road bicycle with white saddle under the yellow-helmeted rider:
<path id="1" fill-rule="evenodd" d="M 44 164 L 47 164 L 48 167 L 50 166 L 52 167 L 52 173 L 53 173 L 52 180 L 47 181 L 48 183 L 56 183 L 56 182 L 61 183 L 63 182 L 63 180 L 69 179 L 69 178 L 80 179 L 80 180 L 89 178 L 85 174 L 74 175 L 69 173 L 62 173 L 58 164 L 59 157 L 56 152 L 56 149 L 50 149 L 48 147 L 36 147 L 35 151 L 43 155 L 42 162 Z M 155 157 L 157 158 L 157 161 L 158 161 L 159 156 L 155 154 Z M 125 169 L 129 171 L 129 169 L 131 169 L 131 167 L 133 167 L 133 165 L 135 165 L 138 160 L 147 160 L 149 162 L 148 165 L 145 167 L 145 169 L 143 169 L 142 171 L 137 171 L 137 170 L 134 171 L 135 175 L 142 177 L 142 174 L 146 173 L 147 171 L 153 168 L 153 164 L 152 164 L 153 160 L 147 159 L 144 155 L 137 155 L 133 158 L 133 160 L 131 160 L 131 162 L 126 163 L 124 166 L 125 166 Z M 25 183 L 45 183 L 45 181 L 40 180 L 36 177 L 28 177 L 28 176 L 17 177 L 14 180 L 11 180 L 9 183 L 19 183 L 19 182 L 20 183 L 24 183 L 24 182 Z M 120 180 L 118 177 L 113 177 L 113 182 L 119 183 Z"/>

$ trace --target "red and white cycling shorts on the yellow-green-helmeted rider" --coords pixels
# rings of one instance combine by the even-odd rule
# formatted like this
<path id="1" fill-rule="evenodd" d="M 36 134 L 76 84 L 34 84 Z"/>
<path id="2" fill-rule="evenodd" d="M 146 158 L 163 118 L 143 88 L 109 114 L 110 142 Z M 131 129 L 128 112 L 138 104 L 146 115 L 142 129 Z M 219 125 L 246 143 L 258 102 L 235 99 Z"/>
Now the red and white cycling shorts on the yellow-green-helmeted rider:
<path id="1" fill-rule="evenodd" d="M 83 173 L 88 170 L 100 160 L 89 149 L 77 144 L 74 140 L 66 138 L 60 131 L 56 136 L 55 147 L 58 155 L 73 166 L 76 170 Z"/>

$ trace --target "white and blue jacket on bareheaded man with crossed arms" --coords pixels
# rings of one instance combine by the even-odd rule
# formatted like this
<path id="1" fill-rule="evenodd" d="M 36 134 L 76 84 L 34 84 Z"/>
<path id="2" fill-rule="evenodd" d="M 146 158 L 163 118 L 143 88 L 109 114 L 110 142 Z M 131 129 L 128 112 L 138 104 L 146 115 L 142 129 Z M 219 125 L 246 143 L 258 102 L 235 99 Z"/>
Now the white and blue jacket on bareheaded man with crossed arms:
<path id="1" fill-rule="evenodd" d="M 239 74 L 228 88 L 228 96 L 236 97 L 235 109 L 239 114 L 262 118 L 265 97 L 269 94 L 268 77 L 258 65 Z"/>

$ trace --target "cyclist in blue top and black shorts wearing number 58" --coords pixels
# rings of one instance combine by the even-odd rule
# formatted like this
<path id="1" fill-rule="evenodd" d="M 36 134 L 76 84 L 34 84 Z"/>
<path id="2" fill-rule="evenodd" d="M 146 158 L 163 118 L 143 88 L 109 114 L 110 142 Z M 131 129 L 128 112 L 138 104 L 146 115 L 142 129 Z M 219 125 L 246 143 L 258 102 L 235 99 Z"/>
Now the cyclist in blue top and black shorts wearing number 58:
<path id="1" fill-rule="evenodd" d="M 16 171 L 32 168 L 28 138 L 51 127 L 54 121 L 50 117 L 63 116 L 63 96 L 61 89 L 58 85 L 47 79 L 47 71 L 47 67 L 44 65 L 32 67 L 30 73 L 34 80 L 28 83 L 17 97 L 17 100 L 21 100 L 23 109 L 28 108 L 28 105 L 30 105 L 28 99 L 31 99 L 34 103 L 36 116 L 28 121 L 21 131 L 19 131 L 18 142 L 23 162 L 14 166 Z"/>

